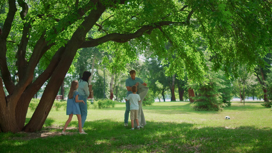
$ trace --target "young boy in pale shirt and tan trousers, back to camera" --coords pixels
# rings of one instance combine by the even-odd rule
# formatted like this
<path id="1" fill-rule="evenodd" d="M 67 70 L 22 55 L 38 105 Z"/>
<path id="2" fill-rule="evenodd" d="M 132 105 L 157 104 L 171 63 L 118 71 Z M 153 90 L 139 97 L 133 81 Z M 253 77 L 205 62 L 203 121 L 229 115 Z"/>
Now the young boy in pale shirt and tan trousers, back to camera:
<path id="1" fill-rule="evenodd" d="M 131 119 L 131 130 L 134 130 L 134 119 L 137 123 L 137 129 L 140 130 L 139 120 L 138 120 L 138 110 L 139 104 L 141 102 L 140 96 L 136 93 L 137 86 L 131 87 L 132 93 L 126 98 L 126 100 L 130 100 L 130 119 Z"/>

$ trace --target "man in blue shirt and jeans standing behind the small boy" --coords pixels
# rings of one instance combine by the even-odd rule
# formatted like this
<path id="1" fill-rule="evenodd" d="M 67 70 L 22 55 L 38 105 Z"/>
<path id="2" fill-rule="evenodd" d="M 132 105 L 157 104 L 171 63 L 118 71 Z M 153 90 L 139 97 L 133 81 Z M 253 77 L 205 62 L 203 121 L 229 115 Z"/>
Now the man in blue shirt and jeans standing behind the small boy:
<path id="1" fill-rule="evenodd" d="M 147 86 L 146 83 L 144 83 L 140 78 L 137 78 L 135 76 L 136 76 L 136 71 L 131 70 L 130 71 L 130 78 L 128 78 L 126 80 L 126 87 L 127 87 L 127 90 L 128 90 L 126 97 L 128 97 L 128 95 L 132 93 L 132 91 L 131 91 L 132 86 L 134 86 L 134 85 L 138 86 L 139 83 L 144 85 L 144 86 Z M 125 121 L 125 126 L 128 126 L 129 114 L 130 114 L 130 101 L 128 100 L 128 101 L 126 101 L 126 112 L 125 112 L 125 120 L 124 120 Z"/>

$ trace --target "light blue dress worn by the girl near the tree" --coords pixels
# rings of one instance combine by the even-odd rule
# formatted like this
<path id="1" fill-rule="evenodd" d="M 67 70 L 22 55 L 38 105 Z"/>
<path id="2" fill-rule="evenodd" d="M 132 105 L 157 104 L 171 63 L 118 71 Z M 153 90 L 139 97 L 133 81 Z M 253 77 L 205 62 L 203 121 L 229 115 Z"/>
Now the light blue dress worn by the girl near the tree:
<path id="1" fill-rule="evenodd" d="M 73 92 L 73 97 L 67 99 L 66 115 L 81 114 L 79 109 L 79 103 L 76 103 L 76 96 L 79 95 L 78 91 Z"/>

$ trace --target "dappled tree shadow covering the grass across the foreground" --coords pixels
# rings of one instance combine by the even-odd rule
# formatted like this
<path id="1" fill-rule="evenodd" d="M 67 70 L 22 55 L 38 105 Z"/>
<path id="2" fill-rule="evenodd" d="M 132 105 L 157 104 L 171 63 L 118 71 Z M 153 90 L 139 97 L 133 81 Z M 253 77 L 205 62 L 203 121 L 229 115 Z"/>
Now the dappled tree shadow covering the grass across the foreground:
<path id="1" fill-rule="evenodd" d="M 105 119 L 86 122 L 84 130 L 88 135 L 70 130 L 75 134 L 30 140 L 24 139 L 23 134 L 0 133 L 0 152 L 269 152 L 272 149 L 271 128 L 253 126 L 196 128 L 185 122 L 147 122 L 143 129 L 131 131 L 122 122 Z"/>

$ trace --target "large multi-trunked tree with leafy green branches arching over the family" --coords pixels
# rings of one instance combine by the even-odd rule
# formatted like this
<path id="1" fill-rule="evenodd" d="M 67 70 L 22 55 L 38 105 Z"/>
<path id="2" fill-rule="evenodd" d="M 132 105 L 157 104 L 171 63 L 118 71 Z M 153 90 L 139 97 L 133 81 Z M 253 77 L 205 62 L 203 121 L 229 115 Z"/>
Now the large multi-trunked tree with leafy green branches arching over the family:
<path id="1" fill-rule="evenodd" d="M 42 129 L 79 48 L 122 43 L 114 60 L 122 63 L 135 60 L 136 52 L 149 45 L 154 56 L 170 63 L 169 76 L 183 78 L 186 70 L 190 80 L 200 81 L 206 65 L 197 39 L 211 50 L 214 69 L 223 65 L 227 74 L 228 67 L 235 73 L 243 63 L 254 67 L 256 56 L 263 57 L 271 46 L 271 2 L 265 0 L 3 0 L 0 5 L 2 132 Z M 90 30 L 95 33 L 87 35 Z M 38 63 L 44 71 L 34 81 Z M 125 66 L 116 65 L 117 72 Z M 39 105 L 24 125 L 30 100 L 46 81 Z"/>

